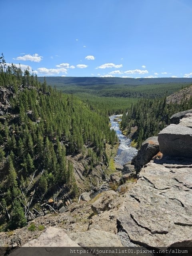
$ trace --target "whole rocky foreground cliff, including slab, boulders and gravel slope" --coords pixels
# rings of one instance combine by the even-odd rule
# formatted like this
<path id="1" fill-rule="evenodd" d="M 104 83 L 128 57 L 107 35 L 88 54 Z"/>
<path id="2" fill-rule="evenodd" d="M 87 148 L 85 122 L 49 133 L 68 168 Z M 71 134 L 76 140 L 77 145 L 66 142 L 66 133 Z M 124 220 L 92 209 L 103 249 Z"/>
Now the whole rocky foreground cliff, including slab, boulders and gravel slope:
<path id="1" fill-rule="evenodd" d="M 65 213 L 51 216 L 50 220 L 46 216 L 46 221 L 41 217 L 39 222 L 34 222 L 35 225 L 64 228 L 72 239 L 66 241 L 71 241 L 71 245 L 75 241 L 83 248 L 107 245 L 192 247 L 191 123 L 192 115 L 185 113 L 179 124 L 171 124 L 160 132 L 158 138 L 149 138 L 143 143 L 134 160 L 137 182 L 129 180 L 128 183 L 112 176 L 112 184 L 118 187 L 116 192 L 105 191 L 92 200 L 88 198 L 88 202 L 73 203 Z M 124 168 L 128 168 L 128 173 L 124 175 L 130 174 L 129 166 Z M 26 228 L 22 230 L 26 232 Z M 44 233 L 47 236 L 48 231 Z M 15 237 L 22 235 L 21 231 L 15 232 Z M 58 234 L 60 232 L 58 229 Z M 28 234 L 26 232 L 27 238 L 23 241 L 39 236 L 40 232 L 30 238 Z M 8 237 L 7 233 L 5 237 Z M 11 244 L 14 237 L 9 240 Z M 27 246 L 36 246 L 34 242 Z M 20 245 L 23 244 L 20 242 Z"/>

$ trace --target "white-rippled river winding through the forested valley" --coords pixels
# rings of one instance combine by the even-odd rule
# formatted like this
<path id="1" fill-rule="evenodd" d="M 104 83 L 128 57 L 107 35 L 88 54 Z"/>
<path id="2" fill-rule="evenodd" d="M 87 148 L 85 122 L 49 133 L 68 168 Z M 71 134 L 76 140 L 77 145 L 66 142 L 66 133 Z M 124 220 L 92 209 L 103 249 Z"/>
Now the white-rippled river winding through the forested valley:
<path id="1" fill-rule="evenodd" d="M 136 154 L 137 154 L 137 149 L 133 148 L 130 146 L 131 139 L 128 138 L 127 136 L 123 135 L 120 128 L 119 124 L 117 121 L 114 121 L 115 118 L 118 118 L 118 121 L 121 121 L 121 116 L 122 115 L 115 115 L 115 116 L 110 116 L 110 123 L 111 123 L 111 129 L 114 129 L 116 131 L 116 134 L 120 140 L 120 144 L 118 147 L 118 152 L 115 157 L 115 161 L 118 164 L 124 165 L 127 162 L 129 162 Z"/>

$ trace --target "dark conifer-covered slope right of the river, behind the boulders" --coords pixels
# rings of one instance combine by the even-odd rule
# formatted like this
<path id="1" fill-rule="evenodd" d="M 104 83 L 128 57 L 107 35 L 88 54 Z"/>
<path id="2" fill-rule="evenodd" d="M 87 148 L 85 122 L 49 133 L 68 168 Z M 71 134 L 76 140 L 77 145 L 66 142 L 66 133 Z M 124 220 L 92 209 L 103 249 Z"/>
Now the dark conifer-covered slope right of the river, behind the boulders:
<path id="1" fill-rule="evenodd" d="M 192 90 L 192 86 L 183 89 L 184 92 Z M 140 99 L 136 104 L 132 104 L 127 112 L 122 116 L 121 128 L 126 130 L 126 134 L 137 142 L 137 148 L 140 148 L 142 142 L 151 136 L 157 136 L 160 130 L 169 124 L 169 118 L 180 111 L 192 108 L 192 96 L 184 95 L 181 100 L 182 90 L 173 96 L 178 95 L 172 103 L 172 95 L 157 99 Z"/>

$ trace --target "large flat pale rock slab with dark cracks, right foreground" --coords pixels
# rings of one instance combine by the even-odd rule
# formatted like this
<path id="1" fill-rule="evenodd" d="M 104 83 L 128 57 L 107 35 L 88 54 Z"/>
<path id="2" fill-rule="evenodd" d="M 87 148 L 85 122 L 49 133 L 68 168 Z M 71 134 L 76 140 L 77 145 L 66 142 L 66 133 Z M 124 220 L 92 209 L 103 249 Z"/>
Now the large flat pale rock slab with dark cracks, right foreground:
<path id="1" fill-rule="evenodd" d="M 117 216 L 119 230 L 131 242 L 156 248 L 192 246 L 192 168 L 177 167 L 152 162 L 142 168 Z"/>

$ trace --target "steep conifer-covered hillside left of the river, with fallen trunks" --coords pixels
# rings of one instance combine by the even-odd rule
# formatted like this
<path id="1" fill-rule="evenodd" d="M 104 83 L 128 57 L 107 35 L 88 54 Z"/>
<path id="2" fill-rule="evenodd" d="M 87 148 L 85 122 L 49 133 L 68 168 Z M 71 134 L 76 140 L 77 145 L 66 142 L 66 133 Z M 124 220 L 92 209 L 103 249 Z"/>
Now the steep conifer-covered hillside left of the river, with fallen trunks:
<path id="1" fill-rule="evenodd" d="M 59 188 L 79 196 L 72 159 L 79 156 L 84 176 L 108 164 L 105 144 L 116 135 L 109 120 L 73 95 L 38 82 L 16 66 L 0 68 L 0 229 L 26 224 L 26 212 Z M 103 170 L 106 166 L 103 165 Z M 84 180 L 86 182 L 86 180 Z M 46 201 L 47 202 L 47 201 Z"/>

